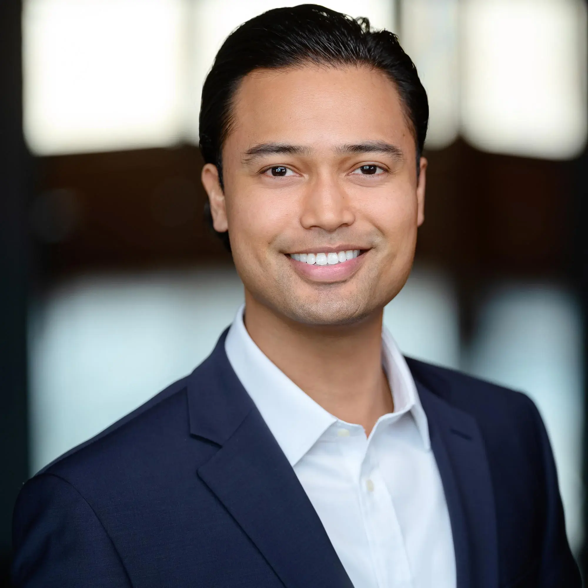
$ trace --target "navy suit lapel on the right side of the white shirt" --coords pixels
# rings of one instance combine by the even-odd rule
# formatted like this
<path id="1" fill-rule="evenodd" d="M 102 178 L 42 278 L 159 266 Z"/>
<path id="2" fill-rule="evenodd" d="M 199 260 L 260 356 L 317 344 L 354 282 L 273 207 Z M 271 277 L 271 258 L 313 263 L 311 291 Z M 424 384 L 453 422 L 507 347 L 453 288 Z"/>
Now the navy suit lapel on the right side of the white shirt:
<path id="1" fill-rule="evenodd" d="M 496 512 L 482 434 L 472 416 L 431 392 L 417 377 L 451 520 L 457 588 L 497 588 Z"/>

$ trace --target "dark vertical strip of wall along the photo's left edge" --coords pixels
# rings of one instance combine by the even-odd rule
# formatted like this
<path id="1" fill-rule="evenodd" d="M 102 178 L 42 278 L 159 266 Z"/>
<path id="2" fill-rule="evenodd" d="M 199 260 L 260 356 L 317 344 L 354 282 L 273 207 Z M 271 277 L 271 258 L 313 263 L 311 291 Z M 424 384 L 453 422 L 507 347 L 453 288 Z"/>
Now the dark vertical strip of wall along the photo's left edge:
<path id="1" fill-rule="evenodd" d="M 28 475 L 28 163 L 22 139 L 21 6 L 0 2 L 0 586 L 8 585 L 12 505 Z"/>

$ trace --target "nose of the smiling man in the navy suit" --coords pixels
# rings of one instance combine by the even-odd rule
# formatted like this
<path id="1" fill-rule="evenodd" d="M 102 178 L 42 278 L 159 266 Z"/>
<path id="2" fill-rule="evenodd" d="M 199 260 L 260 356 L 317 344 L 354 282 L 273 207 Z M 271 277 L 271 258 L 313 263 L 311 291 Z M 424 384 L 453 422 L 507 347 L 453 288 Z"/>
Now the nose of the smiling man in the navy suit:
<path id="1" fill-rule="evenodd" d="M 355 222 L 349 195 L 332 176 L 310 182 L 303 202 L 300 223 L 305 229 L 319 228 L 329 233 Z"/>

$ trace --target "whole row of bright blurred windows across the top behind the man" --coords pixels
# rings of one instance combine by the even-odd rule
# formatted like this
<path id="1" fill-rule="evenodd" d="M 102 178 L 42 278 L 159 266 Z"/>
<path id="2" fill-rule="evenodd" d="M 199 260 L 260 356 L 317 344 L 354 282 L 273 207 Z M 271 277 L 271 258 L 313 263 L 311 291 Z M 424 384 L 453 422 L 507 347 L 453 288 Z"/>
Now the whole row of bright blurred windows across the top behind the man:
<path id="1" fill-rule="evenodd" d="M 289 0 L 24 0 L 24 128 L 39 155 L 198 142 L 202 82 L 239 24 Z M 396 30 L 392 0 L 330 8 Z M 583 0 L 410 0 L 402 44 L 430 104 L 429 148 L 550 159 L 586 140 Z"/>

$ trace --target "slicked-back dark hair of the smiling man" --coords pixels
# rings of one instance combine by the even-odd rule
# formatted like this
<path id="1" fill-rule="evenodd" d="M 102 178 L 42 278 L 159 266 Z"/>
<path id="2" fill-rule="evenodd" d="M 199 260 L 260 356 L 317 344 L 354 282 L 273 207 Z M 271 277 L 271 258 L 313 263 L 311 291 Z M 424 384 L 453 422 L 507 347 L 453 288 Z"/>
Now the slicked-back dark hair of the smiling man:
<path id="1" fill-rule="evenodd" d="M 429 103 L 416 67 L 395 34 L 316 4 L 275 8 L 243 23 L 216 54 L 202 88 L 200 149 L 222 180 L 222 146 L 232 125 L 232 99 L 255 69 L 296 65 L 367 65 L 395 83 L 416 142 L 417 170 L 429 122 Z M 205 215 L 212 226 L 208 202 Z M 217 233 L 229 245 L 228 233 Z"/>

